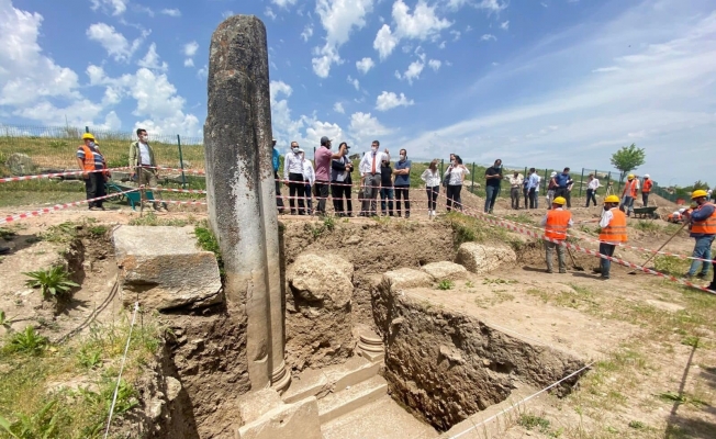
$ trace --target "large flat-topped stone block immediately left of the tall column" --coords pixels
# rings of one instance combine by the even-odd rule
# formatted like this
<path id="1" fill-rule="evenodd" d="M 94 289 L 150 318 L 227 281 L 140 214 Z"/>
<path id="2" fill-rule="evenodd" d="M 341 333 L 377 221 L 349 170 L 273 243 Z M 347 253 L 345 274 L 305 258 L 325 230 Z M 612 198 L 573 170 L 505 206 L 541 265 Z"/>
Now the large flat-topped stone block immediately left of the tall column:
<path id="1" fill-rule="evenodd" d="M 216 258 L 197 247 L 191 227 L 120 226 L 112 240 L 125 303 L 171 309 L 222 302 Z"/>

